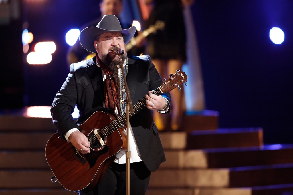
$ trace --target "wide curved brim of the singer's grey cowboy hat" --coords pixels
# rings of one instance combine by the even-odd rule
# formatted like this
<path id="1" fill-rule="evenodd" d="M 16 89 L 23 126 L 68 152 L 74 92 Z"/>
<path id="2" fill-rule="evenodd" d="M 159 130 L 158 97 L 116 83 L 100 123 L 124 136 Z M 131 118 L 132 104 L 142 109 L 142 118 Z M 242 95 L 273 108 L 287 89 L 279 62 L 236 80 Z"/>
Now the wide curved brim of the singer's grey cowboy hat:
<path id="1" fill-rule="evenodd" d="M 107 32 L 120 32 L 123 36 L 125 45 L 130 42 L 130 40 L 132 39 L 132 37 L 134 36 L 136 31 L 135 26 L 132 26 L 128 29 L 124 29 L 124 30 L 105 30 L 99 27 L 87 27 L 84 30 L 82 30 L 80 32 L 79 35 L 79 42 L 80 44 L 84 47 L 84 49 L 92 52 L 92 53 L 96 53 L 96 48 L 94 46 L 94 40 L 96 39 L 96 37 L 98 37 L 99 35 L 103 34 L 103 33 L 107 33 Z"/>

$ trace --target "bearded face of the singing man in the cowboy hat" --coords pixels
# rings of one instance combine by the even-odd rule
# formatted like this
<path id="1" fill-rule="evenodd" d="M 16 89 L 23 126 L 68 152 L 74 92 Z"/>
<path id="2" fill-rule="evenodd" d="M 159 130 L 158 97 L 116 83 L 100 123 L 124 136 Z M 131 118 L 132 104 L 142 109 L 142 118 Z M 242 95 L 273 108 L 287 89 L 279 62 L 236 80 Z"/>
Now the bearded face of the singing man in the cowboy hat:
<path id="1" fill-rule="evenodd" d="M 125 50 L 124 39 L 120 32 L 107 32 L 101 34 L 99 40 L 95 41 L 95 45 L 97 45 L 98 57 L 105 65 L 109 65 L 113 61 L 119 62 L 119 56 L 110 50 L 116 46 Z M 124 61 L 126 55 L 126 52 L 122 55 L 122 61 Z"/>

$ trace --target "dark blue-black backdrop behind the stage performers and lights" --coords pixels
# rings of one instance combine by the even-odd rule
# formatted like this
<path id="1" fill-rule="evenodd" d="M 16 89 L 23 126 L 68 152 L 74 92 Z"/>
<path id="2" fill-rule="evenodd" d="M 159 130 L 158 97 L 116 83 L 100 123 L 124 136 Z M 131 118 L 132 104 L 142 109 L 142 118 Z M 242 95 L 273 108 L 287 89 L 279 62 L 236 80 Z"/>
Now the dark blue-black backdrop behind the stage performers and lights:
<path id="1" fill-rule="evenodd" d="M 69 71 L 66 32 L 100 15 L 96 0 L 25 2 L 33 1 L 22 2 L 23 18 L 0 26 L 1 109 L 50 106 Z M 263 127 L 265 143 L 293 143 L 292 10 L 291 0 L 195 0 L 191 6 L 205 107 L 219 111 L 219 127 Z M 26 63 L 24 22 L 34 34 L 30 48 L 56 43 L 51 63 Z M 282 44 L 270 41 L 272 27 L 285 32 Z"/>

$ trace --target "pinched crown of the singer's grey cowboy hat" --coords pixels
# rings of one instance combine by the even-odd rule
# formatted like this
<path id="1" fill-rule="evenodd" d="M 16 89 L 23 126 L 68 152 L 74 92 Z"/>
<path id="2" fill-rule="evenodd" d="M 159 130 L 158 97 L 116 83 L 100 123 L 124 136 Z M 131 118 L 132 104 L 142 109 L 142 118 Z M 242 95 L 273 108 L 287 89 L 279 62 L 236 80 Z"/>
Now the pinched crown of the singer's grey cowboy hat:
<path id="1" fill-rule="evenodd" d="M 104 15 L 96 27 L 105 30 L 122 30 L 120 22 L 115 15 Z"/>

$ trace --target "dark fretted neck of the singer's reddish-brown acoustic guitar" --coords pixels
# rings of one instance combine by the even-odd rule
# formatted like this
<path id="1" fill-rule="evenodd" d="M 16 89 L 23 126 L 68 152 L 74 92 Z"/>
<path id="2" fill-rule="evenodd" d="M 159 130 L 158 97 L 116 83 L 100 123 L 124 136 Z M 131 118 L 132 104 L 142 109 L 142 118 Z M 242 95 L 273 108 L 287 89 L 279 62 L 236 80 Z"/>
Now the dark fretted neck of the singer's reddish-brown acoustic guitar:
<path id="1" fill-rule="evenodd" d="M 152 94 L 155 95 L 161 95 L 161 89 L 158 87 L 156 90 L 152 92 Z M 129 112 L 129 118 L 132 118 L 132 116 L 136 115 L 139 111 L 141 111 L 143 108 L 147 106 L 146 104 L 147 99 L 144 97 L 141 101 L 139 101 L 137 104 L 133 106 L 134 113 Z M 113 133 L 115 130 L 117 130 L 119 127 L 122 127 L 127 122 L 127 113 L 123 113 L 118 118 L 116 118 L 113 122 L 111 122 L 109 125 L 107 125 L 103 129 L 103 133 L 106 137 L 108 137 L 111 133 Z"/>

